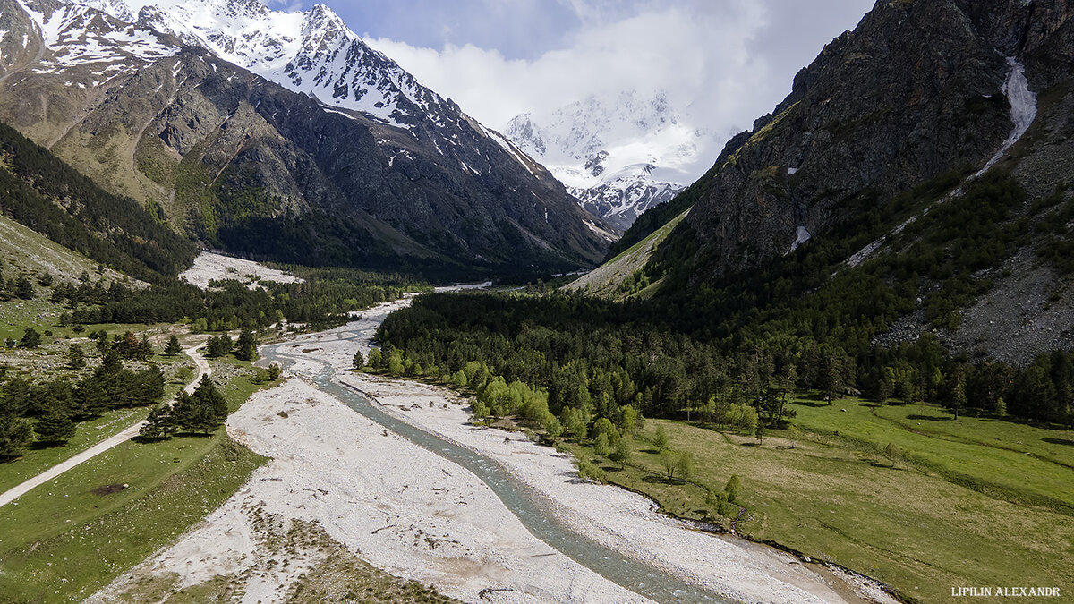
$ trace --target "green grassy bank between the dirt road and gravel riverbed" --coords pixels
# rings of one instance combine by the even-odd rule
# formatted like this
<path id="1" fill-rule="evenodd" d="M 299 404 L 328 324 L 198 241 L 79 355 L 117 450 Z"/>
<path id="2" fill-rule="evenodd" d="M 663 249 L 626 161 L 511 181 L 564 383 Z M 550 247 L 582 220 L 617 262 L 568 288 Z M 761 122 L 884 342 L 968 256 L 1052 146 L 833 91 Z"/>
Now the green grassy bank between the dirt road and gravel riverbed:
<path id="1" fill-rule="evenodd" d="M 232 411 L 257 388 L 242 365 L 215 368 L 231 376 L 222 391 Z M 23 461 L 0 466 L 0 480 Z M 33 489 L 0 517 L 0 601 L 82 601 L 216 509 L 265 461 L 217 430 L 128 441 Z"/>

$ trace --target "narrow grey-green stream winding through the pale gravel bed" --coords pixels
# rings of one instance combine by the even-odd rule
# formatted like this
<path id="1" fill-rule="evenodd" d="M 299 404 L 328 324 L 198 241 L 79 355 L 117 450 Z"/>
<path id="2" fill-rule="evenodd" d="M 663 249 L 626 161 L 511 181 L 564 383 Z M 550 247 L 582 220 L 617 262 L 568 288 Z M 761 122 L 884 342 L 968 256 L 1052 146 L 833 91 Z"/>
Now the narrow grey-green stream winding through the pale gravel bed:
<path id="1" fill-rule="evenodd" d="M 340 337 L 340 340 L 354 343 L 367 341 L 372 337 L 374 330 L 375 328 L 365 327 L 361 330 L 350 331 L 346 337 Z M 389 415 L 371 404 L 365 397 L 355 390 L 336 382 L 337 370 L 330 364 L 304 358 L 305 361 L 317 362 L 321 365 L 320 369 L 309 374 L 295 371 L 293 365 L 297 359 L 281 351 L 284 346 L 290 344 L 265 346 L 262 348 L 265 360 L 279 363 L 281 368 L 291 369 L 293 373 L 310 378 L 319 390 L 344 402 L 369 420 L 473 472 L 496 493 L 496 497 L 534 536 L 571 560 L 614 584 L 656 602 L 728 602 L 712 591 L 625 557 L 572 531 L 565 522 L 555 518 L 551 512 L 552 506 L 543 500 L 542 495 L 514 479 L 495 460 Z"/>

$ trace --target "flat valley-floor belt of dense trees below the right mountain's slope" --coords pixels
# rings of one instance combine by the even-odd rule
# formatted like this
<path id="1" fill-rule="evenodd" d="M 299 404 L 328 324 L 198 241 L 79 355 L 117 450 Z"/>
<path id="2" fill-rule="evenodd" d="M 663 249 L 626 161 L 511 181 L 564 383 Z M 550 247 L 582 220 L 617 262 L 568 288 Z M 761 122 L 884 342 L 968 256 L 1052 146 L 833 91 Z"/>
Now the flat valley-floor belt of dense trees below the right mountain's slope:
<path id="1" fill-rule="evenodd" d="M 710 340 L 667 328 L 649 304 L 431 294 L 384 320 L 377 334 L 383 347 L 368 362 L 469 388 L 478 415 L 547 422 L 547 415 L 539 419 L 547 409 L 568 433 L 599 418 L 621 421 L 629 405 L 753 434 L 784 426 L 794 415 L 788 394 L 803 390 L 829 403 L 860 389 L 877 401 L 1074 422 L 1074 357 L 1064 353 L 1017 369 L 972 364 L 929 333 L 891 348 L 866 344 L 855 354 L 836 346 L 838 337 L 817 342 L 800 330 Z"/>

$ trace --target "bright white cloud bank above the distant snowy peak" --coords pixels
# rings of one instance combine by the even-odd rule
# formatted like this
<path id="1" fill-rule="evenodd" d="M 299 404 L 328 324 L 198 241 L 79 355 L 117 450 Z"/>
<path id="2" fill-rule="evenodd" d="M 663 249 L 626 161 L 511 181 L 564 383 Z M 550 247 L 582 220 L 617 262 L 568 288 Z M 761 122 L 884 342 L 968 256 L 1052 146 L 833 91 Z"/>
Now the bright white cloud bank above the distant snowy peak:
<path id="1" fill-rule="evenodd" d="M 696 176 L 719 145 L 771 111 L 794 73 L 868 8 L 868 0 L 557 1 L 579 25 L 561 47 L 535 58 L 507 58 L 473 44 L 434 49 L 383 38 L 367 42 L 495 129 L 518 114 L 540 115 L 590 95 L 665 90 L 687 124 L 710 133 L 713 148 L 691 170 Z M 824 9 L 836 4 L 842 18 L 829 24 Z M 809 5 L 814 27 L 797 31 L 792 19 L 803 19 Z"/>

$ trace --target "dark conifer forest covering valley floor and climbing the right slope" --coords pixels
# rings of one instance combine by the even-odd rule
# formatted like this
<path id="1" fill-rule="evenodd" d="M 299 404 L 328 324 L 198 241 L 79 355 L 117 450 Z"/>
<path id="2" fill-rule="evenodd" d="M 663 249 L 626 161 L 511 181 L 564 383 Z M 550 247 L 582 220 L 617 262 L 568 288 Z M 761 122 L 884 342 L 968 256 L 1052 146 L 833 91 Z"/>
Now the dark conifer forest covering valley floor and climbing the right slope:
<path id="1" fill-rule="evenodd" d="M 1068 212 L 1061 191 L 1014 219 L 1012 208 L 1026 193 L 993 171 L 908 227 L 903 236 L 912 243 L 901 251 L 860 267 L 842 263 L 892 220 L 943 198 L 960 181 L 945 174 L 885 204 L 871 199 L 872 208 L 856 213 L 836 236 L 764 270 L 720 279 L 692 279 L 703 259 L 685 261 L 693 243 L 672 235 L 644 269 L 645 278 L 664 279 L 648 300 L 426 296 L 384 321 L 383 362 L 397 349 L 403 366 L 448 378 L 477 362 L 488 376 L 547 391 L 552 414 L 583 408 L 591 419 L 618 420 L 624 405 L 655 417 L 698 411 L 719 418 L 744 404 L 778 427 L 788 391 L 815 390 L 828 401 L 861 394 L 1070 426 L 1070 353 L 1015 366 L 953 354 L 932 331 L 913 341 L 876 340 L 918 298 L 930 327 L 957 326 L 960 310 L 991 287 L 983 271 Z M 1049 249 L 1041 249 L 1042 261 L 1058 256 Z M 483 384 L 471 377 L 471 386 Z"/>

